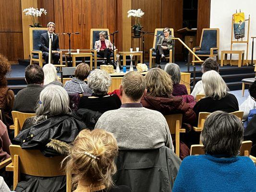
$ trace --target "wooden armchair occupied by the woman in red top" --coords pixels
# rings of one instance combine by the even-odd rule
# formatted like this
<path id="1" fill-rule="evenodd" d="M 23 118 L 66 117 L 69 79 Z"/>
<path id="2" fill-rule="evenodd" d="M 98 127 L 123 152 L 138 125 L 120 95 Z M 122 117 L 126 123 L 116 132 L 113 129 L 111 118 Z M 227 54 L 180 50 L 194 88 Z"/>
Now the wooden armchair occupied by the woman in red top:
<path id="1" fill-rule="evenodd" d="M 110 30 L 109 29 L 91 29 L 91 37 L 90 37 L 90 50 L 92 52 L 92 57 L 94 59 L 94 69 L 97 69 L 97 60 L 98 59 L 103 59 L 100 55 L 97 54 L 97 50 L 94 48 L 95 42 L 99 39 L 99 32 L 104 31 L 107 36 L 106 39 L 110 40 Z M 118 53 L 118 49 L 114 49 L 115 53 L 115 59 L 113 58 L 114 54 L 112 53 L 110 55 L 110 60 L 116 60 L 116 54 Z"/>

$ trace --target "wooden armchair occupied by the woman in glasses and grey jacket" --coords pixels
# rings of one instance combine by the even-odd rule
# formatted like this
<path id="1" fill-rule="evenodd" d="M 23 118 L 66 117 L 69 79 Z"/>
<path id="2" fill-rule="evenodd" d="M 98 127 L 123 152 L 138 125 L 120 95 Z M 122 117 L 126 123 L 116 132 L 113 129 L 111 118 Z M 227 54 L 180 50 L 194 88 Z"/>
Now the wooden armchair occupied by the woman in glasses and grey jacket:
<path id="1" fill-rule="evenodd" d="M 163 29 L 164 28 L 156 28 L 155 29 L 155 36 L 154 36 L 154 42 L 153 42 L 153 47 L 149 49 L 149 68 L 152 68 L 152 60 L 156 58 L 157 53 L 156 48 L 157 48 L 157 44 L 158 44 L 158 39 L 159 37 L 157 37 L 158 35 L 161 34 L 161 36 L 164 35 L 163 33 Z M 172 37 L 174 37 L 174 30 L 172 28 L 170 28 L 171 33 L 170 35 Z M 170 53 L 169 55 L 165 56 L 165 59 L 169 59 L 169 62 L 171 63 L 172 61 L 174 62 L 174 43 L 172 43 L 172 49 L 170 49 Z"/>

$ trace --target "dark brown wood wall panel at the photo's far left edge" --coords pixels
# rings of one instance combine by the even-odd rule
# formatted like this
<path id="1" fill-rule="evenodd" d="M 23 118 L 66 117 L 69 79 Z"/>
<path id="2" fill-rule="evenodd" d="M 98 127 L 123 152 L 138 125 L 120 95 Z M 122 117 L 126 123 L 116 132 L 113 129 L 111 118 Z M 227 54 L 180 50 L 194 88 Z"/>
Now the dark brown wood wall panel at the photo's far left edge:
<path id="1" fill-rule="evenodd" d="M 20 0 L 0 0 L 0 53 L 11 62 L 23 59 Z"/>

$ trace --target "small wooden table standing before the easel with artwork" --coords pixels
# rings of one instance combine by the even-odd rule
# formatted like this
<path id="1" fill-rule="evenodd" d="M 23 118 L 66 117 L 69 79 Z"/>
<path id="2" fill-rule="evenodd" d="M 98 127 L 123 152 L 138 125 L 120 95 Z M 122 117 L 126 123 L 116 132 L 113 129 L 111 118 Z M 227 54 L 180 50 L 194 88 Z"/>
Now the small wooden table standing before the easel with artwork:
<path id="1" fill-rule="evenodd" d="M 222 50 L 221 51 L 221 61 L 220 66 L 222 67 L 223 64 L 226 64 L 228 60 L 228 54 L 230 54 L 230 65 L 232 66 L 232 54 L 238 54 L 238 67 L 244 65 L 244 50 Z M 224 59 L 224 60 L 223 60 Z"/>

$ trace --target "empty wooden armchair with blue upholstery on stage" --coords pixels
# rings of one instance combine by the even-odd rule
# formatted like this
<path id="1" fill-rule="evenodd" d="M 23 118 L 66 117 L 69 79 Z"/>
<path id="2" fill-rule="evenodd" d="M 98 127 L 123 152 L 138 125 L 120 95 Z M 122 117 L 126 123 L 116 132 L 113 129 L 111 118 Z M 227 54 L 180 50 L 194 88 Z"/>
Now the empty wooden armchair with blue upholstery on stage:
<path id="1" fill-rule="evenodd" d="M 216 59 L 219 60 L 219 28 L 204 28 L 202 30 L 200 46 L 193 48 L 193 52 L 198 57 L 213 58 L 216 56 Z M 193 60 L 195 60 L 194 55 Z"/>

